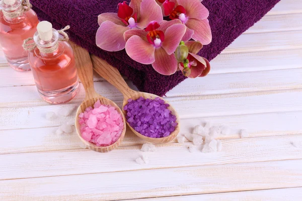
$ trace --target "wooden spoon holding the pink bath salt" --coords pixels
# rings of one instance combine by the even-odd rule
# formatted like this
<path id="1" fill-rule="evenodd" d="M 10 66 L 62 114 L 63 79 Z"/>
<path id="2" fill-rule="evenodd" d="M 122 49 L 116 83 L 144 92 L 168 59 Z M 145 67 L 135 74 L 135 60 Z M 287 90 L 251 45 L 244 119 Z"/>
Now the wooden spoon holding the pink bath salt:
<path id="1" fill-rule="evenodd" d="M 93 84 L 93 69 L 92 69 L 92 63 L 90 59 L 90 55 L 87 52 L 87 50 L 83 49 L 82 47 L 72 44 L 72 49 L 74 52 L 74 57 L 75 57 L 75 65 L 77 65 L 77 70 L 79 77 L 83 83 L 83 86 L 85 88 L 86 92 L 86 97 L 83 101 L 83 103 L 80 105 L 80 107 L 77 110 L 77 114 L 75 115 L 75 128 L 77 129 L 77 134 L 79 138 L 82 140 L 82 142 L 88 146 L 91 150 L 97 151 L 97 152 L 109 152 L 115 148 L 117 148 L 120 143 L 123 141 L 123 138 L 125 136 L 126 132 L 126 123 L 125 123 L 125 116 L 123 115 L 121 109 L 112 101 L 109 100 L 101 95 L 99 95 L 95 89 L 94 89 L 94 84 Z M 88 107 L 93 107 L 94 104 L 97 102 L 97 100 L 100 100 L 101 104 L 103 105 L 111 105 L 116 108 L 117 112 L 119 112 L 122 115 L 123 118 L 123 123 L 124 123 L 124 128 L 123 132 L 120 136 L 120 138 L 113 143 L 110 146 L 107 147 L 98 147 L 97 145 L 87 142 L 84 140 L 81 136 L 81 131 L 80 131 L 80 124 L 79 124 L 79 115 L 85 111 L 86 108 Z"/>

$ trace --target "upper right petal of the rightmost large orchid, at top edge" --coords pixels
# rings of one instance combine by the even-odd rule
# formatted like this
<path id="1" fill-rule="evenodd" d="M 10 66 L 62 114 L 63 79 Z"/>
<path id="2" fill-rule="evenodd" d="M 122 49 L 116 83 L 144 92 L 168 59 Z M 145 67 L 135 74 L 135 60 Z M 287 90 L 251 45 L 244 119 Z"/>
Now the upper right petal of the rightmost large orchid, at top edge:
<path id="1" fill-rule="evenodd" d="M 209 11 L 203 6 L 199 0 L 177 0 L 187 11 L 189 18 L 204 20 L 209 16 Z"/>

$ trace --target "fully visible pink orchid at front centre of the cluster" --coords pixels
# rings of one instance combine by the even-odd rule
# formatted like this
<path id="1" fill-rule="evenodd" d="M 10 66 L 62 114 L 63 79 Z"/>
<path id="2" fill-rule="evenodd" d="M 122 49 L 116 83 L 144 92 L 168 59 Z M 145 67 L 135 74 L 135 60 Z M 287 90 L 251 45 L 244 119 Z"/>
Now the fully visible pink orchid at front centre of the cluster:
<path id="1" fill-rule="evenodd" d="M 131 59 L 152 64 L 163 75 L 174 74 L 178 63 L 173 54 L 186 32 L 180 20 L 150 22 L 145 30 L 126 31 L 126 52 Z"/>

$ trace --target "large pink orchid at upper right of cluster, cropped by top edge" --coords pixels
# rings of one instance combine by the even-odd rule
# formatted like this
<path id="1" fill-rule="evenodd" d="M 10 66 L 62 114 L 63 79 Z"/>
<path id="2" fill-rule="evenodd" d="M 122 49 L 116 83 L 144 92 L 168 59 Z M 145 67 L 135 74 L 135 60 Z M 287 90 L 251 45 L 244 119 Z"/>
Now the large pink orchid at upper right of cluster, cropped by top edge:
<path id="1" fill-rule="evenodd" d="M 187 26 L 183 41 L 191 38 L 207 45 L 212 41 L 212 33 L 207 17 L 209 11 L 200 0 L 157 0 L 171 20 L 179 19 Z"/>

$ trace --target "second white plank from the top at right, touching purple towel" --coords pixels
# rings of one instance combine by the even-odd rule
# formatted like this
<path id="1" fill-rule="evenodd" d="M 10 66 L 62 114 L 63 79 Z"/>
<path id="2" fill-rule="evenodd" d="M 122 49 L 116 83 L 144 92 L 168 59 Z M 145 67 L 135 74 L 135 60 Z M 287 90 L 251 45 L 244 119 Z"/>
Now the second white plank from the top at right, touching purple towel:
<path id="1" fill-rule="evenodd" d="M 302 19 L 302 13 L 266 15 L 244 34 L 302 30 L 302 22 L 299 19 Z"/>

